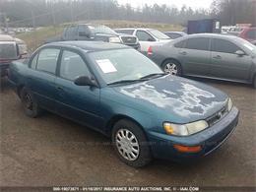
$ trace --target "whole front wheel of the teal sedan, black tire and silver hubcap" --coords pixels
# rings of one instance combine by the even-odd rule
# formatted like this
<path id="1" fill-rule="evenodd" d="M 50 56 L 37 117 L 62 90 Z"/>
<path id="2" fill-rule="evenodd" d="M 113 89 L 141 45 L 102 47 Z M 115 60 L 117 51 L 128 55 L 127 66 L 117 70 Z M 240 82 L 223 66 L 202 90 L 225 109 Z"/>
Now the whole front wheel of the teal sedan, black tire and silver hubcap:
<path id="1" fill-rule="evenodd" d="M 142 167 L 152 160 L 150 146 L 144 132 L 130 120 L 123 119 L 114 125 L 112 144 L 118 158 L 130 166 Z"/>

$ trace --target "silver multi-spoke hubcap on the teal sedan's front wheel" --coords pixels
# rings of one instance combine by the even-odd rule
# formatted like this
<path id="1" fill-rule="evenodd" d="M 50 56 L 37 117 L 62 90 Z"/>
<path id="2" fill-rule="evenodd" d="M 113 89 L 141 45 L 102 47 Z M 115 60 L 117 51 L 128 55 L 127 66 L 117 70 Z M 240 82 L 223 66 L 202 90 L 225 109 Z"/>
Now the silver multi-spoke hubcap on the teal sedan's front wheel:
<path id="1" fill-rule="evenodd" d="M 115 145 L 119 154 L 126 160 L 137 160 L 139 157 L 139 143 L 131 131 L 119 129 L 115 135 Z"/>

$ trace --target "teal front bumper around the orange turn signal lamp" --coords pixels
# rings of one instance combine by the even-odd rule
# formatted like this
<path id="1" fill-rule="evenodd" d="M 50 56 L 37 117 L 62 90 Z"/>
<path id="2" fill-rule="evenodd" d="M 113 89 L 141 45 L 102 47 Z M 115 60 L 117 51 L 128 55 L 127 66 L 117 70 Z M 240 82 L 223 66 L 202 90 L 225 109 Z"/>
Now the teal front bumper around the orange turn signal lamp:
<path id="1" fill-rule="evenodd" d="M 186 137 L 149 132 L 148 138 L 151 142 L 153 156 L 157 159 L 175 161 L 187 161 L 207 156 L 222 146 L 225 140 L 232 134 L 238 124 L 238 116 L 238 109 L 232 107 L 231 111 L 212 127 Z M 173 145 L 201 146 L 202 150 L 198 153 L 181 153 L 174 149 Z"/>

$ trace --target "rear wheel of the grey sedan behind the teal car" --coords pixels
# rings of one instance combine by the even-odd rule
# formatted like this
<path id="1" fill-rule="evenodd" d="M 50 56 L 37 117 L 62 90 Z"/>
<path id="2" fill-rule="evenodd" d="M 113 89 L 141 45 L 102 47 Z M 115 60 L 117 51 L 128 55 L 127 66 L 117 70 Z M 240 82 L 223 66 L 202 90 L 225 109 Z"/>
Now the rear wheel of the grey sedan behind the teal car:
<path id="1" fill-rule="evenodd" d="M 175 76 L 182 75 L 182 69 L 181 69 L 180 63 L 172 59 L 168 59 L 163 62 L 162 71 L 166 74 L 171 74 Z"/>

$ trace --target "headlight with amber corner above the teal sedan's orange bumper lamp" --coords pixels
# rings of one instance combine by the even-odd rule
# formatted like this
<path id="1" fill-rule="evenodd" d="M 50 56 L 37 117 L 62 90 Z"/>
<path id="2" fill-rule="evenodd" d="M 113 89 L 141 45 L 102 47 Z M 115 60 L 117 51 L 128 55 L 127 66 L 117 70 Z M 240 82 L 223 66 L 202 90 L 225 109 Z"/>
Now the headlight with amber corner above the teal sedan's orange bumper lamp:
<path id="1" fill-rule="evenodd" d="M 198 133 L 208 127 L 205 120 L 196 121 L 188 124 L 163 123 L 163 128 L 168 135 L 188 136 Z"/>

